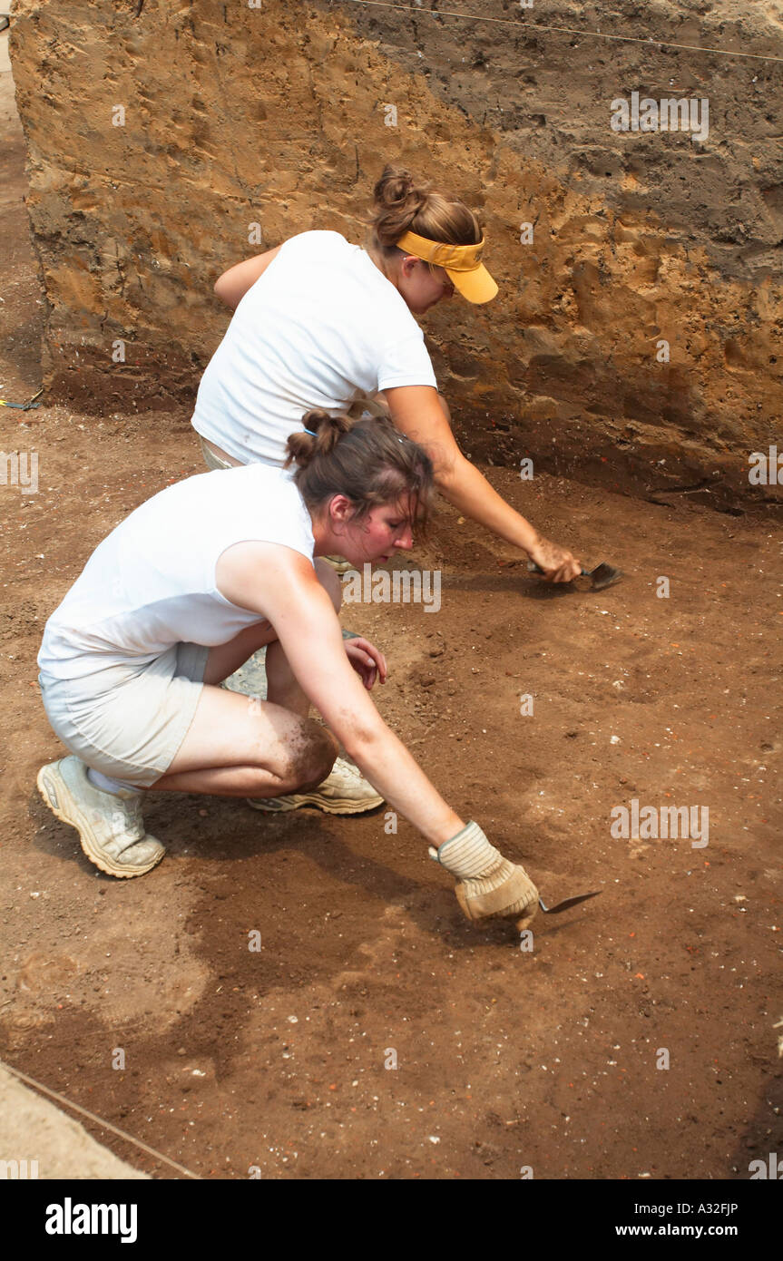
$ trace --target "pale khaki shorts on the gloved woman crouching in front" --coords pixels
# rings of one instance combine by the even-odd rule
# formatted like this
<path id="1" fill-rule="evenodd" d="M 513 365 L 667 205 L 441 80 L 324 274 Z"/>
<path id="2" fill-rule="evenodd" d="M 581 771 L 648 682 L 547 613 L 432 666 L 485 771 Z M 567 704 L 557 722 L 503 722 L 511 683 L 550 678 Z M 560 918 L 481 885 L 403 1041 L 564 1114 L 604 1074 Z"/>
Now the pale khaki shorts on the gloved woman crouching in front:
<path id="1" fill-rule="evenodd" d="M 149 788 L 169 769 L 195 714 L 209 648 L 175 643 L 145 665 L 84 678 L 39 673 L 52 730 L 93 770 Z M 96 661 L 100 661 L 96 657 Z"/>

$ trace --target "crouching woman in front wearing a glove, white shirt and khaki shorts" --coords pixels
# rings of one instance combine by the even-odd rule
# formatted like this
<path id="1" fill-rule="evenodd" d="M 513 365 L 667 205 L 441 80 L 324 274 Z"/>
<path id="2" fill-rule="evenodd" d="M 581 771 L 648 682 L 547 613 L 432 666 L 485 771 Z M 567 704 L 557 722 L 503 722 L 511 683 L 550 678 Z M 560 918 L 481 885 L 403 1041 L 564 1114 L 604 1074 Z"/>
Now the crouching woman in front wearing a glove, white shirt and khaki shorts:
<path id="1" fill-rule="evenodd" d="M 343 641 L 339 581 L 314 566 L 334 551 L 361 566 L 412 547 L 432 464 L 385 419 L 316 411 L 305 426 L 289 439 L 293 475 L 250 464 L 187 478 L 96 549 L 38 657 L 47 715 L 72 750 L 39 772 L 43 799 L 78 828 L 96 866 L 141 875 L 164 854 L 144 828 L 144 789 L 330 808 L 324 782 L 339 740 L 374 803 L 409 818 L 458 878 L 468 918 L 527 923 L 535 885 L 446 805 L 383 723 L 368 696 L 386 680 L 383 656 Z M 222 689 L 262 646 L 267 700 Z"/>

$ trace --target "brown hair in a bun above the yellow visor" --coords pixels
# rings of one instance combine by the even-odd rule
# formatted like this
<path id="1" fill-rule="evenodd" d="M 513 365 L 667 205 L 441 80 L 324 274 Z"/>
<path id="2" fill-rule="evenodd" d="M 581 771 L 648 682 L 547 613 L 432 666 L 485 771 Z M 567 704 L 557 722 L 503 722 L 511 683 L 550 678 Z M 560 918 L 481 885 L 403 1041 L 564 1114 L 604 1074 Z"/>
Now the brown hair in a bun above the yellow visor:
<path id="1" fill-rule="evenodd" d="M 444 197 L 409 170 L 386 166 L 373 188 L 373 216 L 366 248 L 390 264 L 403 232 L 416 232 L 429 241 L 446 245 L 478 245 L 482 226 L 464 202 Z"/>

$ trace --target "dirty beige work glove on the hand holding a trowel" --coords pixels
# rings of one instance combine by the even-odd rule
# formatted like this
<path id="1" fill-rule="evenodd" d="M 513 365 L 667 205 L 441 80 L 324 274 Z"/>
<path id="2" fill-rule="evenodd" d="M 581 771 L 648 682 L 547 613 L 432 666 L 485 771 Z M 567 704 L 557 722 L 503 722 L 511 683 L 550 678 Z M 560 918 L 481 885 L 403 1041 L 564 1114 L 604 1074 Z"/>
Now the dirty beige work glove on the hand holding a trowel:
<path id="1" fill-rule="evenodd" d="M 468 919 L 517 915 L 522 931 L 538 909 L 538 890 L 523 866 L 504 859 L 478 823 L 467 823 L 430 856 L 456 876 L 456 900 Z"/>

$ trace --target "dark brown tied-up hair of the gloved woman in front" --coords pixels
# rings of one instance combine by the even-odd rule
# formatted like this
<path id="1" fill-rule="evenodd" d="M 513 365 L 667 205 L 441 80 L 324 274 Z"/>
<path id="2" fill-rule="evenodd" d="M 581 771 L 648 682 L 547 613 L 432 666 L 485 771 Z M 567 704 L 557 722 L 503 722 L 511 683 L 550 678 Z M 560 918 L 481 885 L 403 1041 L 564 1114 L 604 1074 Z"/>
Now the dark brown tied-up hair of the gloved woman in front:
<path id="1" fill-rule="evenodd" d="M 432 462 L 419 443 L 400 434 L 386 416 L 352 420 L 320 409 L 305 412 L 311 434 L 291 434 L 285 468 L 296 464 L 294 482 L 308 508 L 344 494 L 361 521 L 380 503 L 411 497 L 411 526 L 426 532 L 432 497 Z"/>

